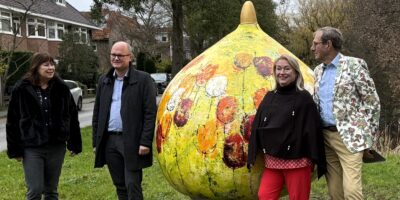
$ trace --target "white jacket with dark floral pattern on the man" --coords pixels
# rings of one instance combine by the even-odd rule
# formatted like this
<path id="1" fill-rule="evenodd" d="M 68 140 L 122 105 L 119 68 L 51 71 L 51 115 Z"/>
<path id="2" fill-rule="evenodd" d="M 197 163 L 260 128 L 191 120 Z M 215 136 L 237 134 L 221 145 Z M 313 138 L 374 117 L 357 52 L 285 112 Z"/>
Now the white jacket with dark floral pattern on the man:
<path id="1" fill-rule="evenodd" d="M 380 103 L 367 63 L 359 58 L 339 54 L 336 71 L 333 115 L 339 134 L 349 151 L 356 153 L 374 144 L 378 131 Z M 319 82 L 323 64 L 314 69 L 314 101 L 319 105 Z"/>

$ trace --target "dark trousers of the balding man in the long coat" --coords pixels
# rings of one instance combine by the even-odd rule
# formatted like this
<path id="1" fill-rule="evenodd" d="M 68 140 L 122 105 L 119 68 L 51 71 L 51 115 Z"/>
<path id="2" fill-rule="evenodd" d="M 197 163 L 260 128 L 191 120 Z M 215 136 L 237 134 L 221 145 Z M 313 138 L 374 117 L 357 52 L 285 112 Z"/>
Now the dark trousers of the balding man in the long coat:
<path id="1" fill-rule="evenodd" d="M 142 200 L 142 170 L 126 169 L 122 135 L 109 136 L 105 155 L 108 171 L 116 187 L 118 199 Z"/>

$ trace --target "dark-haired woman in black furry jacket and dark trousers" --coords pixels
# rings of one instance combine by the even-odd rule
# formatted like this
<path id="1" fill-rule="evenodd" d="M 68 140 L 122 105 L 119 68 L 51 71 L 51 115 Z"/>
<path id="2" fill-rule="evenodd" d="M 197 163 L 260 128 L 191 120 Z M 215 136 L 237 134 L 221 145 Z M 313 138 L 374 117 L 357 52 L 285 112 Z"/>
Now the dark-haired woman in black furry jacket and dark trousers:
<path id="1" fill-rule="evenodd" d="M 48 53 L 33 55 L 29 72 L 16 83 L 6 132 L 8 157 L 23 164 L 26 199 L 58 199 L 66 148 L 78 154 L 82 140 L 75 102 Z"/>

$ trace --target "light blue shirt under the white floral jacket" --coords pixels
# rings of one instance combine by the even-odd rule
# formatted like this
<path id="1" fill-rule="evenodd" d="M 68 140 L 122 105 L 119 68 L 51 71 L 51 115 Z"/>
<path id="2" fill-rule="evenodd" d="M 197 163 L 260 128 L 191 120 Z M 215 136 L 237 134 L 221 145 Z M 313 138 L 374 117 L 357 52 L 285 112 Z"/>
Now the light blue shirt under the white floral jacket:
<path id="1" fill-rule="evenodd" d="M 323 126 L 336 126 L 333 116 L 333 89 L 337 67 L 339 66 L 339 54 L 328 65 L 325 65 L 321 80 L 319 81 L 319 106 Z"/>

